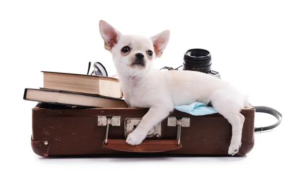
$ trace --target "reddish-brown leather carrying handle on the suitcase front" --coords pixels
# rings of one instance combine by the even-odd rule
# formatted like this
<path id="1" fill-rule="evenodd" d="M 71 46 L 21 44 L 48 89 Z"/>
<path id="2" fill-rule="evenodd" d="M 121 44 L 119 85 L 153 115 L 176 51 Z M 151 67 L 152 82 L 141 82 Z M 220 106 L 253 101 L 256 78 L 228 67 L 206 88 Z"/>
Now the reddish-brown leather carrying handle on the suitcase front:
<path id="1" fill-rule="evenodd" d="M 144 140 L 139 145 L 130 145 L 125 139 L 108 139 L 103 147 L 128 152 L 163 152 L 182 148 L 182 143 L 177 145 L 178 140 Z"/>

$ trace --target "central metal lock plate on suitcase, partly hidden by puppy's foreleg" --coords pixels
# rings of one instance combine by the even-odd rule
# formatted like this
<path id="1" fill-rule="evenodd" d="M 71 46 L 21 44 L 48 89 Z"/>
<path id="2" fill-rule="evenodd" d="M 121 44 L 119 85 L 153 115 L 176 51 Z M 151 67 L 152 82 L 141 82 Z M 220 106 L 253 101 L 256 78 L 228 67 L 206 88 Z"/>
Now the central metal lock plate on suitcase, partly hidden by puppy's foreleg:
<path id="1" fill-rule="evenodd" d="M 129 118 L 125 120 L 125 138 L 132 133 L 138 124 L 141 122 L 141 118 Z M 147 138 L 161 137 L 161 124 L 157 124 L 148 132 Z"/>

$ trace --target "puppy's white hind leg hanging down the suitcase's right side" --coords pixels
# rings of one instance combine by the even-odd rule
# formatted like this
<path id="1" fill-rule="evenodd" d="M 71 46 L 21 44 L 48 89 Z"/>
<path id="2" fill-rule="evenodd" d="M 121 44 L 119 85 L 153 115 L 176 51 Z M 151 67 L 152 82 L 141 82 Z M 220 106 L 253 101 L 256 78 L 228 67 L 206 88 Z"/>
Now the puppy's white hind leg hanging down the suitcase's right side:
<path id="1" fill-rule="evenodd" d="M 245 117 L 240 113 L 243 99 L 238 93 L 230 93 L 228 90 L 220 90 L 211 96 L 214 109 L 220 113 L 232 126 L 232 137 L 228 154 L 238 153 L 241 147 L 242 130 Z"/>

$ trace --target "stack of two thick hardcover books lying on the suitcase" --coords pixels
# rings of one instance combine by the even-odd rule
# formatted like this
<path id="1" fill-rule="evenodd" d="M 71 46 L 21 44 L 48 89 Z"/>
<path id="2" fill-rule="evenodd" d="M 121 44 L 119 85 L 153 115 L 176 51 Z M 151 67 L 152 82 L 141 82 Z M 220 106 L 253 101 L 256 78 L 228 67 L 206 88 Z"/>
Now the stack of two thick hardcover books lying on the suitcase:
<path id="1" fill-rule="evenodd" d="M 24 100 L 104 108 L 126 108 L 119 80 L 112 77 L 42 71 L 44 85 L 26 88 Z"/>

